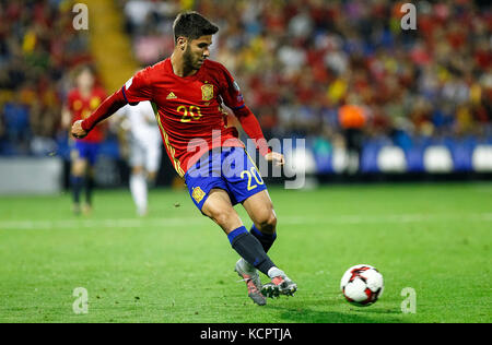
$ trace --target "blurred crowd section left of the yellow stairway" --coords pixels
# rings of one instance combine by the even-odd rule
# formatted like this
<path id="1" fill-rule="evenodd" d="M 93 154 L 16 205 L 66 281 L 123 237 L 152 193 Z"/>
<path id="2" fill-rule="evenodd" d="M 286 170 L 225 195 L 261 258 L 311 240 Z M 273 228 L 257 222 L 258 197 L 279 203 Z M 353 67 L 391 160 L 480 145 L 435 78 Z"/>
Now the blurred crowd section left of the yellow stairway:
<path id="1" fill-rule="evenodd" d="M 70 71 L 90 62 L 69 1 L 0 1 L 0 154 L 56 151 Z"/>

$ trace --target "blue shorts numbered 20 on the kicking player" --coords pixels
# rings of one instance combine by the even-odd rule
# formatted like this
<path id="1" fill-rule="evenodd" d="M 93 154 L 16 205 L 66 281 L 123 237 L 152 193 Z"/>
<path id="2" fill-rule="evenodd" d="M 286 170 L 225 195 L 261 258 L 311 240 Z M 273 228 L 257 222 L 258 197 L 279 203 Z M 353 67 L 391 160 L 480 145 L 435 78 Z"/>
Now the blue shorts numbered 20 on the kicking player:
<path id="1" fill-rule="evenodd" d="M 201 211 L 209 192 L 223 189 L 233 205 L 266 190 L 255 163 L 243 147 L 220 147 L 206 153 L 185 174 L 188 192 Z"/>

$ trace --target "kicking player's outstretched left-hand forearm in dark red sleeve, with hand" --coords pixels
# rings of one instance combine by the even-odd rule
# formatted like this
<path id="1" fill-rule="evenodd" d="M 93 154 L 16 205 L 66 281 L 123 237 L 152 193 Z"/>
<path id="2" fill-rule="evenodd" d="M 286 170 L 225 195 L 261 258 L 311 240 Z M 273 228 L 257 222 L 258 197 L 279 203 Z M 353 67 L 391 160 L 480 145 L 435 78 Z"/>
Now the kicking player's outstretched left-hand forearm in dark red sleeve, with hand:
<path id="1" fill-rule="evenodd" d="M 97 109 L 85 120 L 77 121 L 72 126 L 72 134 L 75 138 L 83 138 L 101 121 L 115 114 L 127 104 L 121 90 L 107 97 Z M 75 126 L 77 124 L 77 126 Z"/>

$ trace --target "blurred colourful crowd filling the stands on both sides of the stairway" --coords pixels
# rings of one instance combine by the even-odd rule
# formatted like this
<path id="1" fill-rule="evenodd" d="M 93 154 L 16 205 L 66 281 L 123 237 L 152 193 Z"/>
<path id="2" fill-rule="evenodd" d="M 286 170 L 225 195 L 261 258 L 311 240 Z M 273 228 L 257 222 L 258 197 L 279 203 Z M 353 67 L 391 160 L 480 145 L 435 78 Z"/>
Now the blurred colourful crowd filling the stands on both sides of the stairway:
<path id="1" fill-rule="evenodd" d="M 214 21 L 211 58 L 233 72 L 267 139 L 330 147 L 352 127 L 402 148 L 492 136 L 490 5 L 418 1 L 418 28 L 402 31 L 403 2 L 389 0 L 115 1 L 141 64 L 171 55 L 180 10 Z M 71 4 L 0 2 L 0 154 L 43 155 L 66 140 L 70 71 L 91 61 Z"/>

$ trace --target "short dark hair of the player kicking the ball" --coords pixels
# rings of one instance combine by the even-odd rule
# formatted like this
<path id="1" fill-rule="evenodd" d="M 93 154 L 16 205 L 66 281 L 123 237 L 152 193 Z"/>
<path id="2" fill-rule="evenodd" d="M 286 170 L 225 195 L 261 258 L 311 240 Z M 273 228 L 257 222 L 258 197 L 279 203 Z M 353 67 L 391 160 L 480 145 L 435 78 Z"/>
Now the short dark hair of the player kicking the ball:
<path id="1" fill-rule="evenodd" d="M 179 13 L 173 24 L 175 43 L 177 43 L 178 37 L 192 40 L 201 36 L 214 35 L 218 31 L 219 26 L 196 11 Z"/>

